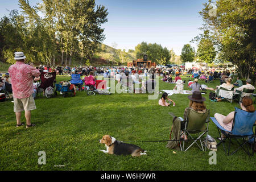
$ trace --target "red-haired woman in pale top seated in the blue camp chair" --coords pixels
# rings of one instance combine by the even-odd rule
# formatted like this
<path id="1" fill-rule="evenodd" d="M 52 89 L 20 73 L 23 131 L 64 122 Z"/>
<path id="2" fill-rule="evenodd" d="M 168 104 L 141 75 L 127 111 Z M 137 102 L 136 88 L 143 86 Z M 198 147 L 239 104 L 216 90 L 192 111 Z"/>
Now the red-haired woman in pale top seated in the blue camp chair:
<path id="1" fill-rule="evenodd" d="M 254 105 L 253 105 L 253 100 L 251 100 L 251 98 L 249 96 L 243 97 L 240 106 L 241 106 L 242 110 L 245 110 L 247 112 L 254 112 L 255 111 Z M 228 131 L 232 130 L 233 119 L 234 119 L 234 111 L 230 112 L 226 116 L 222 115 L 222 114 L 215 113 L 214 118 L 216 118 L 218 123 L 220 123 L 220 125 L 224 129 L 226 129 Z M 256 125 L 256 121 L 255 121 L 255 125 Z M 221 134 L 221 138 L 218 138 L 218 139 L 221 140 L 222 138 L 225 138 L 224 134 Z"/>

